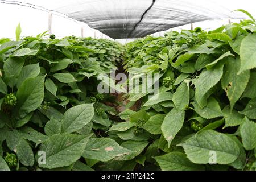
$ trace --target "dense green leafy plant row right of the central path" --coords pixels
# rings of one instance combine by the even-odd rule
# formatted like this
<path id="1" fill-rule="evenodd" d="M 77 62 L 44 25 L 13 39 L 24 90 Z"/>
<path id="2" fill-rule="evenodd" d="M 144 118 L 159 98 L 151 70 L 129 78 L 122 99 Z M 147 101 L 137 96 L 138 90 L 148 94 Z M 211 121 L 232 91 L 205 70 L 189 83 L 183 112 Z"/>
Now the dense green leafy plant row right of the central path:
<path id="1" fill-rule="evenodd" d="M 126 124 L 110 130 L 149 142 L 137 158 L 151 169 L 255 170 L 255 32 L 252 18 L 126 44 L 126 71 L 159 73 L 159 94 L 130 94 L 141 109 L 123 111 Z"/>

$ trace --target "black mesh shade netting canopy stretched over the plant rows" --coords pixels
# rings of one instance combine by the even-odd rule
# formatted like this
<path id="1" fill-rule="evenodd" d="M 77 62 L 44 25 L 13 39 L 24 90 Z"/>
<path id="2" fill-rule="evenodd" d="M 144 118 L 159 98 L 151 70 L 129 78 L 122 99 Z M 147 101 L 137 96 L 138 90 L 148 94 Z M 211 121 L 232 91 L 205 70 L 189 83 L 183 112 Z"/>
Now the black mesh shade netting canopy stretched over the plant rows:
<path id="1" fill-rule="evenodd" d="M 203 0 L 19 0 L 3 1 L 67 15 L 114 39 L 139 38 L 204 20 L 241 18 Z"/>

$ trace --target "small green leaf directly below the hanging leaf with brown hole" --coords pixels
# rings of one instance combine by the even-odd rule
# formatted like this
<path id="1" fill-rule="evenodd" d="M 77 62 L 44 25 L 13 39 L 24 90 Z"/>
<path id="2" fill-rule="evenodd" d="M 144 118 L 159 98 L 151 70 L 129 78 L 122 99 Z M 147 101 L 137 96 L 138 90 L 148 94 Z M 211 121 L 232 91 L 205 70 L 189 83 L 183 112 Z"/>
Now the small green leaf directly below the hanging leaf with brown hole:
<path id="1" fill-rule="evenodd" d="M 229 106 L 226 106 L 223 110 L 222 113 L 224 114 L 225 118 L 225 127 L 229 126 L 238 126 L 243 123 L 243 115 L 239 114 L 236 110 L 232 109 L 230 110 Z"/>

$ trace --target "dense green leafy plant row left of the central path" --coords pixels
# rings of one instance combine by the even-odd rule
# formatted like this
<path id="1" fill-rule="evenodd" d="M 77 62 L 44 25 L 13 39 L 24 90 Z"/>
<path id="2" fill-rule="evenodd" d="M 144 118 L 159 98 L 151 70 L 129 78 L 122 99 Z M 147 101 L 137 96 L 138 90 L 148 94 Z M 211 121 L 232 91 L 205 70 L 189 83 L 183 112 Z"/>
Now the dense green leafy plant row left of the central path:
<path id="1" fill-rule="evenodd" d="M 121 148 L 114 140 L 96 138 L 116 114 L 104 104 L 114 102 L 113 96 L 97 92 L 97 76 L 117 69 L 121 44 L 74 36 L 47 39 L 46 32 L 20 39 L 20 32 L 18 26 L 16 41 L 0 39 L 0 169 L 92 170 L 85 159 L 102 155 L 93 148 L 108 142 Z"/>

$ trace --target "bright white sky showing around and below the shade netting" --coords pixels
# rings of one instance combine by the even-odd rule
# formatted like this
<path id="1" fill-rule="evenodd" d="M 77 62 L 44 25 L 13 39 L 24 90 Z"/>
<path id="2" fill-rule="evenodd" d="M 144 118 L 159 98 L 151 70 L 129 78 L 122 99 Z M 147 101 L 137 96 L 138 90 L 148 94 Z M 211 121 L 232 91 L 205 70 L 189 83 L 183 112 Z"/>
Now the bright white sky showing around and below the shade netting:
<path id="1" fill-rule="evenodd" d="M 203 0 L 194 0 L 197 3 L 207 3 Z M 208 0 L 209 1 L 209 0 Z M 255 0 L 210 0 L 218 3 L 229 10 L 244 9 L 249 11 L 256 17 L 256 1 Z M 52 0 L 51 0 L 52 2 Z M 20 22 L 22 27 L 22 36 L 37 35 L 48 30 L 48 13 L 42 10 L 32 9 L 30 7 L 23 7 L 18 5 L 6 5 L 0 3 L 0 37 L 14 38 L 15 27 Z M 237 21 L 237 20 L 232 20 Z M 222 24 L 227 24 L 228 20 L 214 20 L 207 22 L 195 23 L 194 27 L 203 27 L 204 29 L 214 29 L 220 27 Z M 89 28 L 85 23 L 79 23 L 71 19 L 63 18 L 58 15 L 52 16 L 52 33 L 57 37 L 75 35 L 81 36 L 81 27 L 84 28 L 84 36 L 96 36 L 98 38 L 105 38 L 98 31 Z M 180 30 L 181 28 L 190 28 L 190 25 L 174 28 Z M 94 33 L 95 32 L 95 33 Z M 162 35 L 156 33 L 156 35 Z"/>

